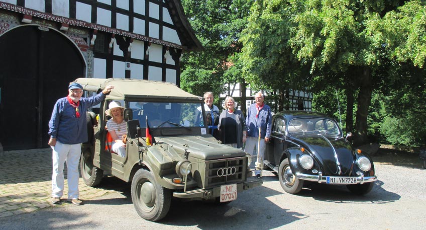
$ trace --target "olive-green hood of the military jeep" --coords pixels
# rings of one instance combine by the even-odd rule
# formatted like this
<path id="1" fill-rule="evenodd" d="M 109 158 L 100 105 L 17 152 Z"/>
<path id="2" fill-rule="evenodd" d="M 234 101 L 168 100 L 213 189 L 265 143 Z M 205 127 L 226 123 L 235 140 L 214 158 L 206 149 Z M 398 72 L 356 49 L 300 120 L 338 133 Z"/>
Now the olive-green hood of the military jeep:
<path id="1" fill-rule="evenodd" d="M 184 152 L 186 149 L 190 157 L 200 160 L 216 160 L 246 156 L 243 150 L 221 144 L 211 135 L 155 138 L 157 142 L 164 142 L 171 145 L 177 152 Z"/>

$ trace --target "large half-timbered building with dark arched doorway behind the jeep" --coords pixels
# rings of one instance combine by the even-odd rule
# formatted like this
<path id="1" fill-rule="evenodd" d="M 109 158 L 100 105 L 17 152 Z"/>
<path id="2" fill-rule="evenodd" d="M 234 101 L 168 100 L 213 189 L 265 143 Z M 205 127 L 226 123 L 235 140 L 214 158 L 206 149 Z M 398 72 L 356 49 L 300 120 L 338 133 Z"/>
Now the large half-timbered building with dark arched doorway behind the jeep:
<path id="1" fill-rule="evenodd" d="M 47 147 L 76 78 L 179 86 L 182 53 L 200 49 L 179 0 L 0 0 L 0 145 Z"/>

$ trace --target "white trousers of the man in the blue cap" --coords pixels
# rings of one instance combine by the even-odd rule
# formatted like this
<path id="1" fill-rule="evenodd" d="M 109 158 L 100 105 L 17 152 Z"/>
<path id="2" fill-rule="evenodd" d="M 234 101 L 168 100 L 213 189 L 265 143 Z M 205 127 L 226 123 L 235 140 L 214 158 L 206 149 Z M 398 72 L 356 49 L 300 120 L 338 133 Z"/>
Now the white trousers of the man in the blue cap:
<path id="1" fill-rule="evenodd" d="M 78 199 L 78 162 L 81 155 L 81 144 L 64 144 L 56 141 L 51 146 L 53 173 L 52 197 L 61 197 L 64 194 L 64 163 L 67 164 L 68 199 Z"/>

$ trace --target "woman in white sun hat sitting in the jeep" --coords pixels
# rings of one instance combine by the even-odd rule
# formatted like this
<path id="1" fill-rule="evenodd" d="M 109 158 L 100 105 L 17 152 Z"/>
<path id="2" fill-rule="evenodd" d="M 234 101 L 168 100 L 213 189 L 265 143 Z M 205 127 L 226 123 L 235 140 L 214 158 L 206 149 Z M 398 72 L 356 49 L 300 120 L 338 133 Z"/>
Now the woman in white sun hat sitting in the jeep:
<path id="1" fill-rule="evenodd" d="M 109 109 L 105 110 L 105 114 L 112 117 L 107 121 L 108 132 L 113 138 L 112 150 L 124 158 L 126 157 L 126 144 L 122 137 L 127 133 L 127 122 L 124 121 L 123 112 L 124 107 L 117 101 L 112 101 Z"/>

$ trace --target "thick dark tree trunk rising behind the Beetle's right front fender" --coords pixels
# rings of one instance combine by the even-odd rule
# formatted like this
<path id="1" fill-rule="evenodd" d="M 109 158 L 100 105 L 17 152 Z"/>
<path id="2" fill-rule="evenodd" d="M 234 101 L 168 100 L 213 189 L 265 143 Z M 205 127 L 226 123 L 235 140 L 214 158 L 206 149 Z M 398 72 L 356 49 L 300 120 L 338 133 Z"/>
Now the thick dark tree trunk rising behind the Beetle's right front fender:
<path id="1" fill-rule="evenodd" d="M 373 92 L 373 83 L 371 79 L 371 71 L 368 67 L 362 69 L 359 79 L 360 90 L 358 94 L 358 107 L 355 120 L 355 136 L 354 145 L 368 143 L 367 137 L 367 117 L 368 108 L 371 104 L 371 94 Z"/>

